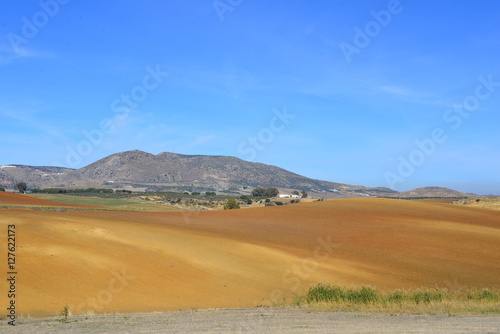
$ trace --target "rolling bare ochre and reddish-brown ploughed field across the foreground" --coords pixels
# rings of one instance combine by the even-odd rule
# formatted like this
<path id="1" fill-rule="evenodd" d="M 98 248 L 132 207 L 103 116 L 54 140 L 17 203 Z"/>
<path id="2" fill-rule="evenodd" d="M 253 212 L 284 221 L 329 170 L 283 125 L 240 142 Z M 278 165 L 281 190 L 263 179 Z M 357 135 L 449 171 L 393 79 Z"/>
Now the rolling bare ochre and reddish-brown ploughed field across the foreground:
<path id="1" fill-rule="evenodd" d="M 33 207 L 64 204 L 37 201 L 0 192 L 0 206 L 30 206 L 0 210 L 2 245 L 7 225 L 16 226 L 16 305 L 25 316 L 57 315 L 64 306 L 254 307 L 320 282 L 500 287 L 499 211 L 355 198 L 209 212 L 56 212 Z M 5 272 L 6 252 L 2 246 Z M 0 294 L 0 304 L 8 302 Z"/>

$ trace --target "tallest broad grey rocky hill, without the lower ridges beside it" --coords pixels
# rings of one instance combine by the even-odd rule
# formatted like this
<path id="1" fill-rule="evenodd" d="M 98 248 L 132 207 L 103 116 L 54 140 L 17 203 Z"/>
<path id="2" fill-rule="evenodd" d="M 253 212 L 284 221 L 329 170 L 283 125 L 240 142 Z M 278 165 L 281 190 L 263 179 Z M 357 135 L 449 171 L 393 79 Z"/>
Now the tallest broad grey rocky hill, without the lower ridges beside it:
<path id="1" fill-rule="evenodd" d="M 321 191 L 344 186 L 235 157 L 174 153 L 154 155 L 137 150 L 113 154 L 68 173 L 64 180 L 74 184 L 92 180 L 98 184 L 216 190 L 247 186 Z"/>

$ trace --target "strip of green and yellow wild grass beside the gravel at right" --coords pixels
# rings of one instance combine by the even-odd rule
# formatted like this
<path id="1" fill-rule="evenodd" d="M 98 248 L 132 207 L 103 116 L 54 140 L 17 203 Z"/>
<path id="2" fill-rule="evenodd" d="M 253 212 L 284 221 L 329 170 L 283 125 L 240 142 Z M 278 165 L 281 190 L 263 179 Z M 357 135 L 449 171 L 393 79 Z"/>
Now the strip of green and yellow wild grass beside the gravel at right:
<path id="1" fill-rule="evenodd" d="M 371 287 L 343 288 L 318 284 L 302 295 L 295 295 L 292 305 L 311 306 L 331 311 L 498 314 L 500 290 L 414 289 L 381 291 Z"/>

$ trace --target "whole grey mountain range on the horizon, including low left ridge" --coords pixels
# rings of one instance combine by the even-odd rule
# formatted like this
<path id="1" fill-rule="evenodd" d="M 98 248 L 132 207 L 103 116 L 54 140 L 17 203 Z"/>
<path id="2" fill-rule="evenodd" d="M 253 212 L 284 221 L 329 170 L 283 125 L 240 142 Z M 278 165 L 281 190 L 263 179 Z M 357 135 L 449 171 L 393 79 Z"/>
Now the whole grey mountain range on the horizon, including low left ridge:
<path id="1" fill-rule="evenodd" d="M 0 185 L 13 188 L 17 182 L 30 188 L 126 188 L 136 190 L 212 190 L 248 192 L 256 187 L 304 189 L 325 197 L 402 196 L 385 187 L 367 188 L 344 183 L 315 180 L 283 168 L 248 162 L 230 156 L 157 155 L 134 150 L 120 152 L 80 169 L 64 167 L 0 166 Z M 431 187 L 433 188 L 433 187 Z M 431 189 L 422 188 L 422 189 Z M 461 196 L 439 188 L 430 196 Z M 417 189 L 418 190 L 418 189 Z M 417 191 L 415 190 L 415 191 Z M 408 192 L 404 197 L 418 196 Z M 460 193 L 463 194 L 463 193 Z"/>

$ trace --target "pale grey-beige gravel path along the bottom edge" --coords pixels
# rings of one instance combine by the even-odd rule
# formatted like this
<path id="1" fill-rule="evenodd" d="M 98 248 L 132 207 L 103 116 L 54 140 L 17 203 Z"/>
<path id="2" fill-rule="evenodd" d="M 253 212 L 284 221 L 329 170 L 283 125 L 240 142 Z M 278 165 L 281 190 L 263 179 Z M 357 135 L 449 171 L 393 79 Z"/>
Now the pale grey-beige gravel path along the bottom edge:
<path id="1" fill-rule="evenodd" d="M 60 317 L 59 317 L 60 318 Z M 500 316 L 315 312 L 251 308 L 4 320 L 0 333 L 500 333 Z"/>

